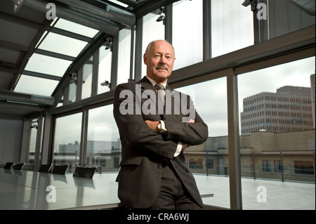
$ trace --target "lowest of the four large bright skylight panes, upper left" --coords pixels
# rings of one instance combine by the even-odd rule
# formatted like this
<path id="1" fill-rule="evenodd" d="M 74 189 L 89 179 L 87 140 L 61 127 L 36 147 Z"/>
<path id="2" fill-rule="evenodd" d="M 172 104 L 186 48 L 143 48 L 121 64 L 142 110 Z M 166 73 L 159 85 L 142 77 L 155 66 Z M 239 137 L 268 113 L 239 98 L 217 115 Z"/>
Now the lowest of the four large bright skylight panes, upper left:
<path id="1" fill-rule="evenodd" d="M 22 74 L 14 91 L 32 95 L 51 96 L 57 85 L 58 81 L 56 80 L 31 77 Z"/>

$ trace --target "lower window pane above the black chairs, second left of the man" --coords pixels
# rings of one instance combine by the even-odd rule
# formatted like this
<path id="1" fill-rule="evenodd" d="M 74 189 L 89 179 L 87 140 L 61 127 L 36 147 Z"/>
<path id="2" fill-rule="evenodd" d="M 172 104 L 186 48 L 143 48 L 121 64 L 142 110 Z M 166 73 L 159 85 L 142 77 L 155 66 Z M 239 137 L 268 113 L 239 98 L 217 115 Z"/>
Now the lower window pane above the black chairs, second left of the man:
<path id="1" fill-rule="evenodd" d="M 82 113 L 55 119 L 53 164 L 69 164 L 73 173 L 80 159 Z"/>

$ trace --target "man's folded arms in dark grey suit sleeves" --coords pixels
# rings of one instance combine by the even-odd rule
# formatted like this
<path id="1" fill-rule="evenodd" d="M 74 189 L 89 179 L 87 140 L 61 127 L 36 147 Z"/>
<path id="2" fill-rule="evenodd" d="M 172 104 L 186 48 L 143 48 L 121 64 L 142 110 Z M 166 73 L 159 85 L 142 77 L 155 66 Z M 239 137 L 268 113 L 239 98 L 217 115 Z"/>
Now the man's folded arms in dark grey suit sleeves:
<path id="1" fill-rule="evenodd" d="M 182 122 L 181 115 L 164 115 L 163 122 L 168 130 L 166 133 L 157 132 L 157 124 L 162 120 L 160 114 L 121 114 L 119 106 L 129 99 L 119 98 L 119 93 L 126 89 L 135 93 L 134 86 L 135 84 L 121 84 L 114 93 L 114 119 L 119 128 L 122 147 L 131 151 L 154 152 L 173 159 L 179 142 L 182 143 L 181 150 L 185 150 L 190 145 L 200 145 L 206 141 L 208 127 L 197 112 L 195 120 L 188 122 Z M 135 97 L 130 100 L 133 101 L 130 105 L 138 106 Z M 188 99 L 187 102 L 192 103 L 192 100 Z M 135 111 L 135 108 L 133 109 Z"/>

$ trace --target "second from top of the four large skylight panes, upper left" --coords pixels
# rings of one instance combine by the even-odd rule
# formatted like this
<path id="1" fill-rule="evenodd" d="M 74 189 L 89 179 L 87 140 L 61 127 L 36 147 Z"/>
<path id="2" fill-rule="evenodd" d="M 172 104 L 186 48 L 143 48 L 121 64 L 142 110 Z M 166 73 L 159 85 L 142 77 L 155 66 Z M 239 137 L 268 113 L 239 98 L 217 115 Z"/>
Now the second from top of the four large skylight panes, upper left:
<path id="1" fill-rule="evenodd" d="M 39 45 L 39 49 L 77 57 L 86 44 L 88 42 L 50 32 Z"/>

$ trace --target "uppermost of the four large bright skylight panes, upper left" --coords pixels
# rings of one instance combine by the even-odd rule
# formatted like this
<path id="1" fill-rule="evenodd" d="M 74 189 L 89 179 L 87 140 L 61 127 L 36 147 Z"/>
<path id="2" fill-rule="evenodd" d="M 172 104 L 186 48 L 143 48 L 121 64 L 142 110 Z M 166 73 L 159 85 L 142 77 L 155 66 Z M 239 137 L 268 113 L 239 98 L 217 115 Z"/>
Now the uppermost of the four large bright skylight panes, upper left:
<path id="1" fill-rule="evenodd" d="M 80 34 L 86 37 L 94 37 L 96 34 L 98 34 L 97 29 L 93 29 L 90 27 L 86 27 L 84 25 L 77 24 L 75 22 L 70 22 L 68 20 L 59 19 L 58 22 L 54 25 L 54 27 L 59 29 L 65 29 L 69 32 L 73 32 L 75 34 Z"/>

